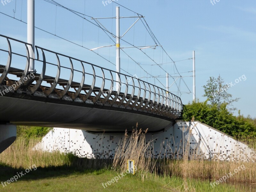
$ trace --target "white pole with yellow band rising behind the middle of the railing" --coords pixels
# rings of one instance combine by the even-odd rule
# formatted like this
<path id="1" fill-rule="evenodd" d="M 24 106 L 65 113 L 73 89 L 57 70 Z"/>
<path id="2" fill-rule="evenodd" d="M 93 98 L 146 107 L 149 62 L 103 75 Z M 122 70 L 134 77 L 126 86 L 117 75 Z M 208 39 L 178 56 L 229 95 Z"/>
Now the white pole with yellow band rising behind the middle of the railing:
<path id="1" fill-rule="evenodd" d="M 116 72 L 120 73 L 120 25 L 119 7 L 116 7 Z M 119 88 L 119 77 L 116 73 L 116 91 Z M 121 82 L 120 82 L 121 83 Z"/>

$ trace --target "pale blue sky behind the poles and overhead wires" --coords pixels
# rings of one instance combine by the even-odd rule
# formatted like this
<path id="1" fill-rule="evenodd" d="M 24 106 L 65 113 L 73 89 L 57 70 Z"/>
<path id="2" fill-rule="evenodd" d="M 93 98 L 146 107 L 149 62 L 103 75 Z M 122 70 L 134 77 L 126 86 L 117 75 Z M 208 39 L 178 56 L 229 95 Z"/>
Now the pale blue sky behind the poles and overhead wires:
<path id="1" fill-rule="evenodd" d="M 115 17 L 115 3 L 102 3 L 98 0 L 55 0 L 56 2 L 84 13 L 91 17 Z M 192 71 L 192 51 L 196 52 L 196 97 L 204 101 L 203 85 L 210 76 L 220 75 L 225 83 L 234 84 L 228 92 L 234 98 L 241 98 L 234 103 L 234 107 L 241 110 L 245 116 L 256 117 L 256 2 L 255 1 L 224 1 L 211 3 L 210 0 L 172 1 L 172 0 L 118 0 L 117 3 L 145 16 L 150 29 L 157 40 L 164 47 L 168 55 L 176 62 L 179 72 Z M 13 10 L 16 12 L 14 15 Z M 27 40 L 27 25 L 20 22 L 27 21 L 26 0 L 11 0 L 9 3 L 0 4 L 2 13 L 14 16 L 15 20 L 0 14 L 0 34 Z M 48 32 L 61 36 L 76 44 L 89 49 L 115 44 L 98 27 L 83 20 L 77 15 L 49 4 L 43 0 L 35 3 L 35 26 Z M 134 16 L 131 12 L 120 7 L 120 16 Z M 136 15 L 135 15 L 136 16 Z M 90 17 L 86 19 L 93 22 Z M 115 34 L 115 20 L 104 19 L 100 22 Z M 120 19 L 120 35 L 122 35 L 134 22 L 134 18 Z M 125 41 L 136 46 L 154 45 L 142 22 L 138 21 L 123 37 Z M 1 42 L 2 43 L 2 42 Z M 35 30 L 35 44 L 56 52 L 64 53 L 78 59 L 92 62 L 106 68 L 115 70 L 115 65 L 102 59 L 97 54 L 75 44 L 69 43 L 59 37 Z M 121 41 L 121 47 L 129 44 Z M 146 55 L 134 48 L 124 49 L 136 62 L 153 76 L 163 76 L 164 70 L 170 74 L 176 73 L 171 60 L 162 52 L 161 47 L 144 49 L 160 69 Z M 96 52 L 115 64 L 115 46 L 102 48 Z M 147 76 L 138 64 L 121 52 L 121 68 L 138 77 Z M 121 72 L 124 72 L 121 70 Z M 125 72 L 124 72 L 125 73 Z M 184 81 L 192 91 L 192 73 L 182 73 Z M 242 76 L 245 78 L 240 78 Z M 172 76 L 176 76 L 173 74 Z M 243 77 L 244 77 L 243 76 Z M 148 76 L 149 77 L 149 76 Z M 154 78 L 142 78 L 154 84 Z M 158 78 L 165 85 L 165 78 Z M 175 78 L 174 78 L 175 79 Z M 238 80 L 236 80 L 238 79 Z M 170 84 L 173 80 L 170 78 Z M 187 87 L 179 79 L 181 92 L 188 92 Z M 156 85 L 164 87 L 156 81 Z M 174 94 L 177 87 L 170 88 Z M 181 94 L 184 104 L 192 100 L 192 93 Z M 237 112 L 234 112 L 237 115 Z"/>

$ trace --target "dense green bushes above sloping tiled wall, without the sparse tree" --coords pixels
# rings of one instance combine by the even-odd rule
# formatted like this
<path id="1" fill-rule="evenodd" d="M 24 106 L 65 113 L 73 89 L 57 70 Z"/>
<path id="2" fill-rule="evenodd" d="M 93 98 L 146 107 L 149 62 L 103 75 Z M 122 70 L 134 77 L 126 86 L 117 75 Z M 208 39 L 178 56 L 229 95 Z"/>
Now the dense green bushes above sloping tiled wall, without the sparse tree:
<path id="1" fill-rule="evenodd" d="M 188 103 L 183 107 L 182 117 L 185 121 L 195 119 L 202 123 L 208 124 L 215 129 L 218 129 L 235 138 L 256 137 L 255 119 L 250 116 L 243 115 L 233 116 L 227 109 L 227 103 L 218 105 L 207 104 L 207 101 L 200 102 L 199 100 Z"/>

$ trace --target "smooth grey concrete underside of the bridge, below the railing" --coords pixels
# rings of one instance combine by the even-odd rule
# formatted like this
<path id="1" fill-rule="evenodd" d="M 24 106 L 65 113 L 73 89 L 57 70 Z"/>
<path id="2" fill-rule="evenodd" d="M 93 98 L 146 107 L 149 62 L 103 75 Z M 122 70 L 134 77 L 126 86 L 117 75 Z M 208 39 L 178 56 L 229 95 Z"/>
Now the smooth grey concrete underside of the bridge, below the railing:
<path id="1" fill-rule="evenodd" d="M 6 86 L 0 85 L 0 90 Z M 114 107 L 101 102 L 93 104 L 74 102 L 68 96 L 62 100 L 57 95 L 42 97 L 43 92 L 33 95 L 8 92 L 0 97 L 0 122 L 16 125 L 49 126 L 83 129 L 91 132 L 124 132 L 131 131 L 139 124 L 140 128 L 149 132 L 159 132 L 172 126 L 174 120 L 147 113 L 142 110 L 131 110 Z M 54 96 L 56 98 L 54 98 Z"/>

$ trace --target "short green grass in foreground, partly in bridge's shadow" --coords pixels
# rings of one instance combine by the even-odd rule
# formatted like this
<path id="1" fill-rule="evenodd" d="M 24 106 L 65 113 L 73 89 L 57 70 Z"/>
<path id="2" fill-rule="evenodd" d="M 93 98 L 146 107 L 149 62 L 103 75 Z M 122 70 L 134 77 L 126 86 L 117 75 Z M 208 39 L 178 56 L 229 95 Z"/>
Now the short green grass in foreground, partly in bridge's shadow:
<path id="1" fill-rule="evenodd" d="M 24 170 L 0 166 L 0 182 L 9 180 L 17 172 Z M 18 179 L 17 182 L 3 187 L 0 191 L 255 191 L 255 185 L 233 185 L 221 183 L 212 188 L 210 181 L 182 180 L 177 177 L 158 177 L 151 174 L 126 175 L 116 183 L 103 188 L 102 183 L 107 183 L 118 174 L 106 169 L 92 171 L 79 171 L 71 167 L 37 168 Z"/>

